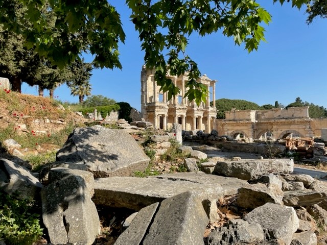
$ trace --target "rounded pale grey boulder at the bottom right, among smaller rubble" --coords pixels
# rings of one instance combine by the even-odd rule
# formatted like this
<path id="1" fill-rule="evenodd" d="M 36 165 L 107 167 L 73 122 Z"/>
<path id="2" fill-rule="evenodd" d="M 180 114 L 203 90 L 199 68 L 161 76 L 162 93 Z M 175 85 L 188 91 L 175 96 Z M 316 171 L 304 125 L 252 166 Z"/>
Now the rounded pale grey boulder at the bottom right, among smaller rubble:
<path id="1" fill-rule="evenodd" d="M 299 226 L 299 220 L 293 207 L 266 203 L 255 208 L 244 219 L 262 226 L 266 240 L 281 239 L 286 245 L 292 241 L 292 235 Z"/>

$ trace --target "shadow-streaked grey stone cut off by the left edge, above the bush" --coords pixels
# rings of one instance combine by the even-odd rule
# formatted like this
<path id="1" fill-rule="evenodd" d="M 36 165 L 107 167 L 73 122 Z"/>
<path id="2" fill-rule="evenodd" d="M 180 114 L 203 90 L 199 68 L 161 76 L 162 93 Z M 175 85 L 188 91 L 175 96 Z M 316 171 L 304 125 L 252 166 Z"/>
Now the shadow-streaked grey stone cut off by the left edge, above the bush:
<path id="1" fill-rule="evenodd" d="M 26 167 L 0 158 L 0 188 L 6 193 L 16 192 L 21 199 L 34 199 L 42 187 Z"/>

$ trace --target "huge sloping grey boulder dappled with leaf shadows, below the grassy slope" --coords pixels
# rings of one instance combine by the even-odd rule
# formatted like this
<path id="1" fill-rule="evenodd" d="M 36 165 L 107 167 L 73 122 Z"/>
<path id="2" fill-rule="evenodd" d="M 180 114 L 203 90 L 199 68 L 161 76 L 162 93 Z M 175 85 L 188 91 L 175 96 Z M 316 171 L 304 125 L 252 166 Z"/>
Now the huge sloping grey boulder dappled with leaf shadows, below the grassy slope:
<path id="1" fill-rule="evenodd" d="M 80 163 L 95 177 L 130 176 L 144 170 L 150 159 L 128 133 L 102 126 L 76 128 L 57 161 Z"/>

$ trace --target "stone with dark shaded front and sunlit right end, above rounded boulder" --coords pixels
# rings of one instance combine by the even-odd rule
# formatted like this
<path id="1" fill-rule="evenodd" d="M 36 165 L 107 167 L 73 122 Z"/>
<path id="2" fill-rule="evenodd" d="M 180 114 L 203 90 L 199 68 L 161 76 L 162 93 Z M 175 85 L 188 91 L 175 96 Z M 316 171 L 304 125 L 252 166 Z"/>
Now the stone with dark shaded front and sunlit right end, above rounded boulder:
<path id="1" fill-rule="evenodd" d="M 264 184 L 258 183 L 238 190 L 237 204 L 242 208 L 260 207 L 266 203 L 283 204 L 283 191 L 273 191 Z"/>

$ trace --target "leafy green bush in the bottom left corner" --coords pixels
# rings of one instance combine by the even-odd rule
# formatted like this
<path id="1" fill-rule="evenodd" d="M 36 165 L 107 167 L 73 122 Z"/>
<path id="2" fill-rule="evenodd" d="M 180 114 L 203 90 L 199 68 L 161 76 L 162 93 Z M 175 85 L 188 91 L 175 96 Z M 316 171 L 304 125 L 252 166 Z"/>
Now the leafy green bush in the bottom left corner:
<path id="1" fill-rule="evenodd" d="M 18 200 L 0 191 L 0 240 L 7 245 L 31 245 L 43 234 L 39 224 L 40 206 Z"/>

